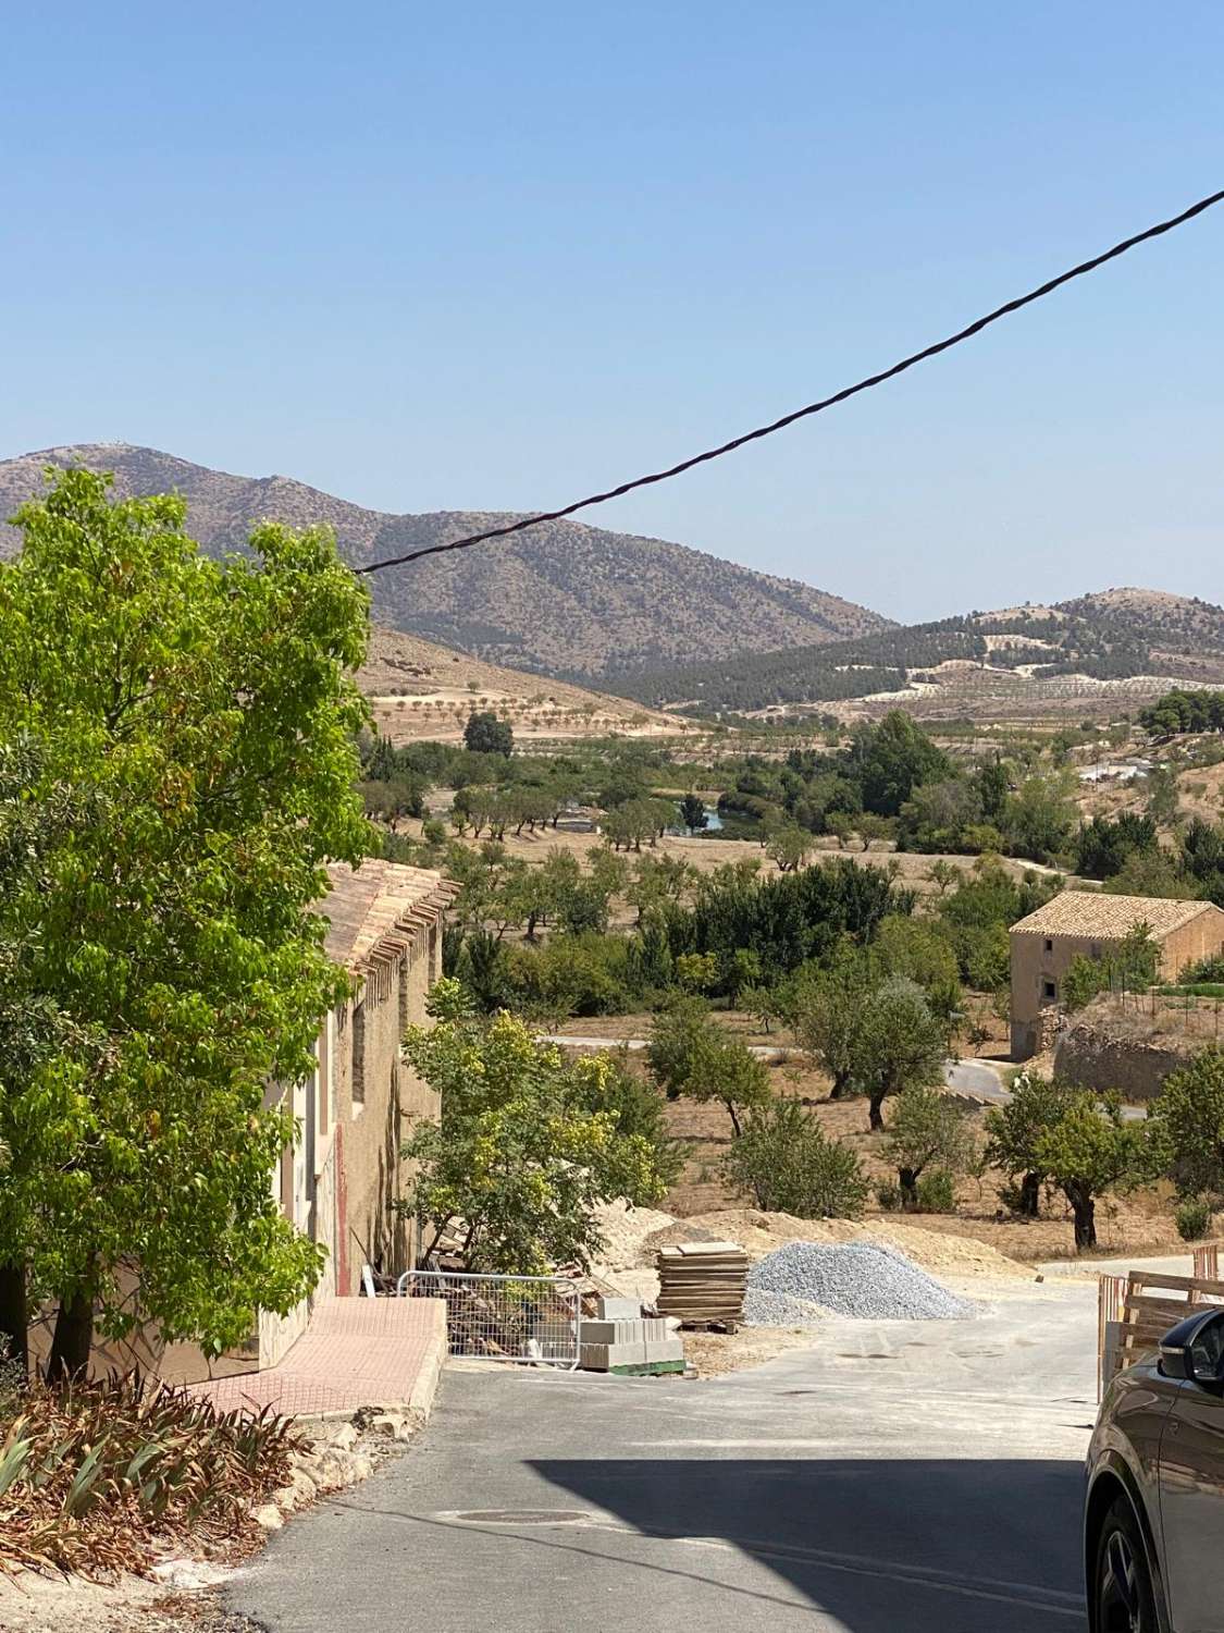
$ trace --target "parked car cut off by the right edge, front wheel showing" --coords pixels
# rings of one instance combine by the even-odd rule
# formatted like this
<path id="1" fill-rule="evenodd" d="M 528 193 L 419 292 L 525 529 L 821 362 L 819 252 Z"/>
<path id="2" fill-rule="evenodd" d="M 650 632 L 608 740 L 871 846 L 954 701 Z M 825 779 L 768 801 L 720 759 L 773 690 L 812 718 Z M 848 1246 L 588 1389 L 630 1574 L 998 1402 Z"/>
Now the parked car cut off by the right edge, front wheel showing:
<path id="1" fill-rule="evenodd" d="M 1224 1633 L 1224 1306 L 1118 1373 L 1087 1476 L 1092 1633 Z"/>

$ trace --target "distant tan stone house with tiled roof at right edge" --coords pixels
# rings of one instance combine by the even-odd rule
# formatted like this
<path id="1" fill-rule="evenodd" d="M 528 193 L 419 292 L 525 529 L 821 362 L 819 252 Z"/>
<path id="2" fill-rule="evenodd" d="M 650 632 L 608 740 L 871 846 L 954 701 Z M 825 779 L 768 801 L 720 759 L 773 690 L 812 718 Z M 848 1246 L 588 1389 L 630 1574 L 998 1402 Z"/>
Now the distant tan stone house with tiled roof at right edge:
<path id="1" fill-rule="evenodd" d="M 1139 924 L 1147 926 L 1159 949 L 1159 975 L 1165 981 L 1224 950 L 1224 913 L 1211 901 L 1062 890 L 1012 926 L 1013 1060 L 1028 1060 L 1053 1042 L 1062 980 L 1072 960 L 1103 959 Z"/>

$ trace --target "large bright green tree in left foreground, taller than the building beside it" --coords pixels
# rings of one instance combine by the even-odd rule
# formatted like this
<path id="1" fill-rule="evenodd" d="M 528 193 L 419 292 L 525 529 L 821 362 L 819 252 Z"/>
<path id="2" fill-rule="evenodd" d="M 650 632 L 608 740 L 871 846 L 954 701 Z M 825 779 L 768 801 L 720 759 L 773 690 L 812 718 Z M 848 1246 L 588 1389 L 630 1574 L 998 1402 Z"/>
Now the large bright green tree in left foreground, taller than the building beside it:
<path id="1" fill-rule="evenodd" d="M 224 1349 L 320 1270 L 273 1195 L 294 1130 L 264 1102 L 313 1070 L 348 990 L 313 906 L 323 861 L 356 865 L 370 843 L 353 681 L 367 601 L 322 529 L 261 526 L 250 558 L 219 563 L 180 498 L 113 503 L 85 470 L 16 519 L 0 741 L 38 740 L 36 810 L 67 790 L 93 815 L 3 901 L 0 937 L 91 1045 L 65 1040 L 5 1086 L 10 1264 L 59 1302 L 54 1370 L 85 1365 L 95 1310 L 106 1333 L 145 1319 Z M 132 1262 L 135 1306 L 118 1287 Z"/>

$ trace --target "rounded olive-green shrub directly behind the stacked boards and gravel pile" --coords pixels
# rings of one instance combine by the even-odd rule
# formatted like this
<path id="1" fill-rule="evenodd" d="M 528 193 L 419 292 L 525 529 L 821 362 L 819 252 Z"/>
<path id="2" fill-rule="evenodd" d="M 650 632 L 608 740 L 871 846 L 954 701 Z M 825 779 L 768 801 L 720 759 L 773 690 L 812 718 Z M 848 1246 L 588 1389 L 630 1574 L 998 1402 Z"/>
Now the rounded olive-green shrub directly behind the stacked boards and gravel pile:
<path id="1" fill-rule="evenodd" d="M 723 1174 L 759 1208 L 798 1218 L 857 1218 L 867 1200 L 858 1156 L 829 1140 L 816 1117 L 792 1099 L 752 1112 L 723 1158 Z"/>

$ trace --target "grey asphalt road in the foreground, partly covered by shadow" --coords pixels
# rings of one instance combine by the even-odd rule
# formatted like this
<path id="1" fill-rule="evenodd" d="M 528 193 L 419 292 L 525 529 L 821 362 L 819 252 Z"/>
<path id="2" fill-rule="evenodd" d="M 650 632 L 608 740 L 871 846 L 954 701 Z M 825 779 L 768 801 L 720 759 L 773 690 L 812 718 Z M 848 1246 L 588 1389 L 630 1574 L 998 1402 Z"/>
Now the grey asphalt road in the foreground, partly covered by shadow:
<path id="1" fill-rule="evenodd" d="M 1080 1633 L 1095 1290 L 832 1321 L 712 1382 L 447 1370 L 230 1586 L 271 1633 Z"/>

